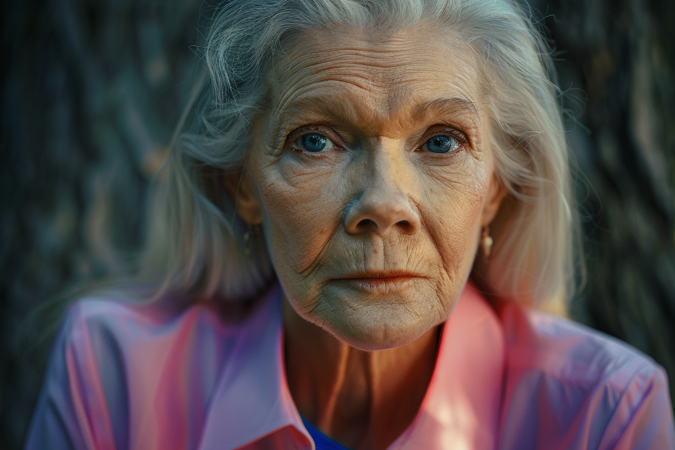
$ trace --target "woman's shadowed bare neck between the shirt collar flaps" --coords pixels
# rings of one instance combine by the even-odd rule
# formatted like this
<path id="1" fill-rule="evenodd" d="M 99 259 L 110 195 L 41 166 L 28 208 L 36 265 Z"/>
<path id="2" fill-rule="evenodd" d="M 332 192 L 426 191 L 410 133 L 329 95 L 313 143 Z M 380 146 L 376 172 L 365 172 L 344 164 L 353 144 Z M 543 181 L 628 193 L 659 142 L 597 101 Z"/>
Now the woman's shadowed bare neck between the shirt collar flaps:
<path id="1" fill-rule="evenodd" d="M 439 327 L 400 347 L 362 351 L 284 302 L 286 377 L 304 418 L 351 449 L 385 449 L 410 425 L 427 391 Z"/>

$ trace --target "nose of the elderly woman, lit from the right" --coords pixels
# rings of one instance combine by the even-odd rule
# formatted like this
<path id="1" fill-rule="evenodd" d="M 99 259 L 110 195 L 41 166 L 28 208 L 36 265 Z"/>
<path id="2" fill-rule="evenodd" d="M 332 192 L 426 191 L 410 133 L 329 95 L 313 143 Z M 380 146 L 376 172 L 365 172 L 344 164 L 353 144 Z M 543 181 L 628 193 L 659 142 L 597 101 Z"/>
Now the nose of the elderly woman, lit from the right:
<path id="1" fill-rule="evenodd" d="M 348 233 L 369 231 L 384 235 L 392 229 L 412 234 L 420 227 L 415 204 L 408 198 L 412 174 L 385 152 L 377 152 L 368 166 L 367 184 L 360 196 L 348 204 L 344 227 Z"/>

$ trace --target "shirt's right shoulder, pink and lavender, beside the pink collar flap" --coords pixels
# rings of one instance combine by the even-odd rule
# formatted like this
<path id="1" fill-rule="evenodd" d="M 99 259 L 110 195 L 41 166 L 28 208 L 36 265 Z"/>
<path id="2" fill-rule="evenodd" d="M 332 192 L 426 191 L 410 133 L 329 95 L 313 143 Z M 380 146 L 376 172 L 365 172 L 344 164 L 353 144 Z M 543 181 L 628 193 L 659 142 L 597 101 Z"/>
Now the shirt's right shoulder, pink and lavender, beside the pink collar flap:
<path id="1" fill-rule="evenodd" d="M 565 448 L 614 448 L 631 429 L 635 439 L 649 441 L 656 433 L 660 445 L 672 445 L 668 381 L 649 356 L 584 325 L 515 305 L 499 316 L 506 342 L 504 437 L 518 443 L 510 448 L 547 448 L 540 444 L 550 437 L 569 442 Z"/>

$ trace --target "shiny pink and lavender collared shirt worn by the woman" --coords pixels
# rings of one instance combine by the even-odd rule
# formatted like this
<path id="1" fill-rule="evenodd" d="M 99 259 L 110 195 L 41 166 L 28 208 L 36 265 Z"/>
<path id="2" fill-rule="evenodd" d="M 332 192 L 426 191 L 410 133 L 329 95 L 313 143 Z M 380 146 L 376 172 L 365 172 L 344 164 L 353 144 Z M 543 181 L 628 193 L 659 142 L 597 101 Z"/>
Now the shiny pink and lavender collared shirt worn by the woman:
<path id="1" fill-rule="evenodd" d="M 431 384 L 389 449 L 675 449 L 664 370 L 597 331 L 470 285 Z M 244 322 L 209 304 L 80 300 L 26 449 L 312 449 L 286 385 L 281 291 Z"/>

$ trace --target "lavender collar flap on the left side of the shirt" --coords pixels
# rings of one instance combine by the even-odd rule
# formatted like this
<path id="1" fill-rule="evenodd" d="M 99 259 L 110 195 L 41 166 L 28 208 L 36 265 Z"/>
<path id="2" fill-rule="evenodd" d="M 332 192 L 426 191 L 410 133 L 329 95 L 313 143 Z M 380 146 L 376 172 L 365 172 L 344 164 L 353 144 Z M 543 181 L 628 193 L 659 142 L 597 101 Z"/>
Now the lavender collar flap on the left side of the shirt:
<path id="1" fill-rule="evenodd" d="M 237 335 L 219 376 L 200 449 L 238 449 L 275 432 L 285 434 L 296 448 L 313 447 L 286 383 L 282 333 L 281 289 L 275 287 Z"/>

